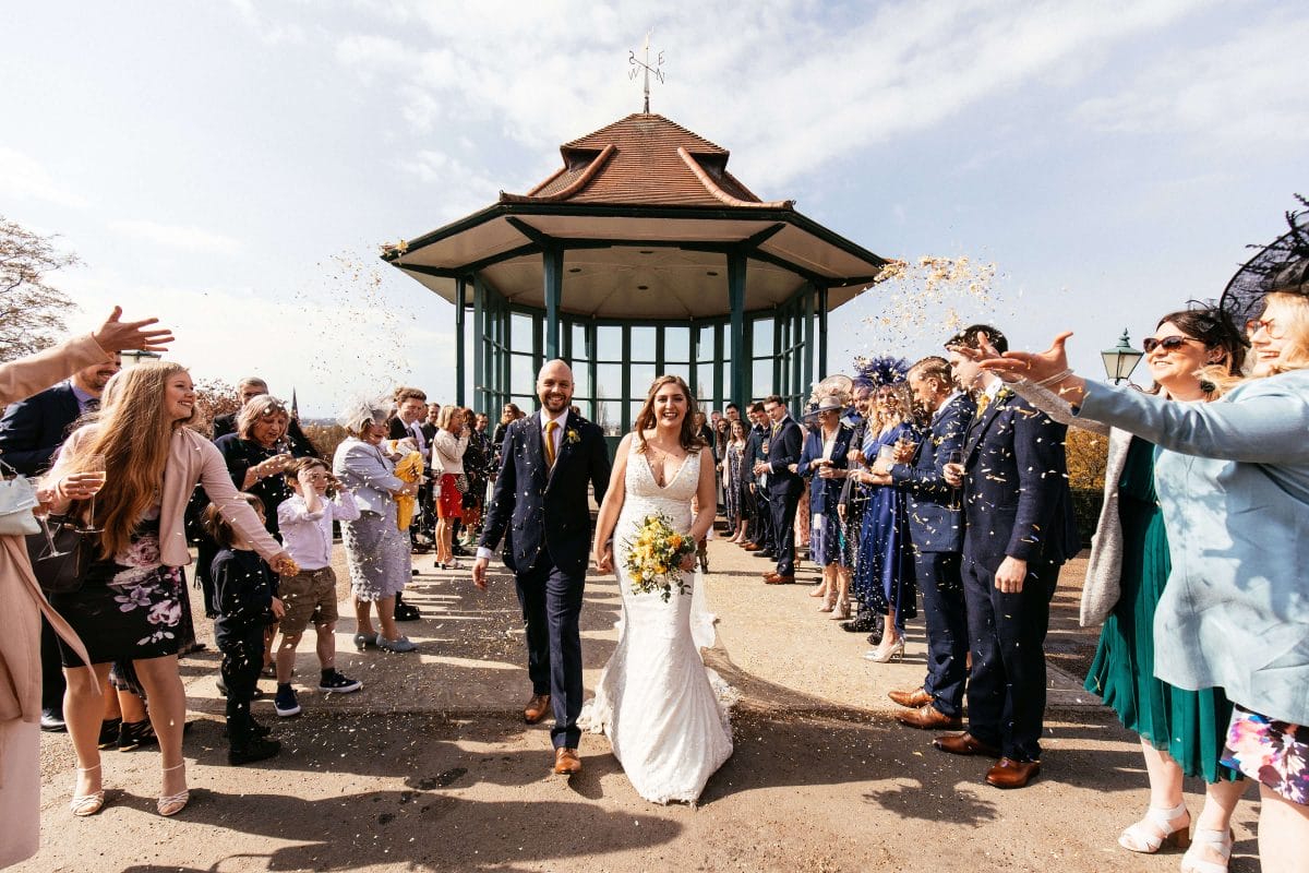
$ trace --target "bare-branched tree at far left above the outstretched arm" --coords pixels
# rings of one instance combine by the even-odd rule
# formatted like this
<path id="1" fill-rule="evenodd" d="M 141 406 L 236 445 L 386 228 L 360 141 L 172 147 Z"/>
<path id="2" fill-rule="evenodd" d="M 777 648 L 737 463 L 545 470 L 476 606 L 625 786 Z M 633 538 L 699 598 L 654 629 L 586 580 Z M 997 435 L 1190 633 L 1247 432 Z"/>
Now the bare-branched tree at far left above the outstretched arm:
<path id="1" fill-rule="evenodd" d="M 0 361 L 54 344 L 77 308 L 47 281 L 51 272 L 80 263 L 54 241 L 0 216 Z"/>

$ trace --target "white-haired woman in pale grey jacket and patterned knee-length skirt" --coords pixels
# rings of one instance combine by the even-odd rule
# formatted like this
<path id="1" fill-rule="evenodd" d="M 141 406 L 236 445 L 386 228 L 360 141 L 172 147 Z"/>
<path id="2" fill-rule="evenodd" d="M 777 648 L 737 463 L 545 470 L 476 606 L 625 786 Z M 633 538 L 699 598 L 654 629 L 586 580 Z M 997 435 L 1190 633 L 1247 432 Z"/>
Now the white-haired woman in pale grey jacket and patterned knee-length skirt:
<path id="1" fill-rule="evenodd" d="M 376 401 L 352 403 L 339 423 L 350 435 L 336 446 L 332 475 L 348 488 L 359 518 L 342 521 L 346 564 L 355 598 L 355 648 L 376 645 L 386 652 L 412 652 L 418 647 L 395 630 L 395 597 L 410 579 L 408 541 L 401 534 L 397 495 L 418 493 L 416 482 L 395 476 L 395 458 L 381 449 L 387 433 L 387 406 Z M 377 605 L 380 631 L 372 609 Z"/>

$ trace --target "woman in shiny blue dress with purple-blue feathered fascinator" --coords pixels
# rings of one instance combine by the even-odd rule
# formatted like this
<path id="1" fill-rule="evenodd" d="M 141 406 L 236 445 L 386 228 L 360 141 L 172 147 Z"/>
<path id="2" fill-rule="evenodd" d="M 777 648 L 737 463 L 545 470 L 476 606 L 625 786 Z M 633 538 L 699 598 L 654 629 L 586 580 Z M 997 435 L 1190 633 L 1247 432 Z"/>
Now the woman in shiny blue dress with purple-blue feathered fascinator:
<path id="1" fill-rule="evenodd" d="M 919 442 L 905 383 L 882 385 L 873 395 L 874 414 L 864 433 L 863 455 L 868 467 L 853 475 L 868 486 L 864 527 L 859 537 L 859 560 L 853 590 L 860 609 L 885 616 L 882 640 L 864 654 L 886 664 L 905 657 L 905 624 L 918 614 L 914 558 L 908 546 L 908 520 L 903 495 L 890 484 L 877 484 L 880 458 L 890 458 L 902 444 Z"/>

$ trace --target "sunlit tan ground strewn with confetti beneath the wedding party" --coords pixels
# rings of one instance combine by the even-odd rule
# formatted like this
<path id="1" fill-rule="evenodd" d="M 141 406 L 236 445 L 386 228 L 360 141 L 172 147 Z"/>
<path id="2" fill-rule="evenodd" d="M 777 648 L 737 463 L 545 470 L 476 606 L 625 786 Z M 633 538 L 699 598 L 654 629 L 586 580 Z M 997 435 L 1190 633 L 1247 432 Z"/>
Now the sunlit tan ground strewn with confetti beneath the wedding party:
<path id="1" fill-rule="evenodd" d="M 711 544 L 708 593 L 719 643 L 707 662 L 744 694 L 736 753 L 699 805 L 641 800 L 603 737 L 583 739 L 584 772 L 551 776 L 546 725 L 526 726 L 529 687 L 512 580 L 479 593 L 467 573 L 423 573 L 407 599 L 420 622 L 402 626 L 418 656 L 350 647 L 339 668 L 364 691 L 301 691 L 304 715 L 258 719 L 283 754 L 225 763 L 212 649 L 182 661 L 190 719 L 185 753 L 192 800 L 174 819 L 153 810 L 153 750 L 105 753 L 109 802 L 96 817 L 67 808 L 72 753 L 64 734 L 42 741 L 42 851 L 22 873 L 77 870 L 1174 870 L 1178 855 L 1118 848 L 1147 804 L 1135 738 L 1080 690 L 1094 632 L 1076 627 L 1080 561 L 1064 572 L 1050 637 L 1051 703 L 1043 772 L 1003 792 L 988 766 L 935 751 L 929 733 L 890 719 L 890 687 L 922 679 L 924 645 L 911 633 L 903 664 L 874 665 L 867 644 L 816 610 L 809 586 L 763 586 L 762 561 Z M 813 577 L 813 573 L 809 573 Z M 588 581 L 586 686 L 613 650 L 619 594 Z M 343 603 L 344 606 L 344 603 Z M 198 615 L 200 639 L 212 639 Z M 315 675 L 312 643 L 298 674 Z M 272 682 L 263 681 L 271 692 Z M 1199 809 L 1203 791 L 1187 784 Z M 1257 793 L 1238 810 L 1230 869 L 1258 869 Z"/>

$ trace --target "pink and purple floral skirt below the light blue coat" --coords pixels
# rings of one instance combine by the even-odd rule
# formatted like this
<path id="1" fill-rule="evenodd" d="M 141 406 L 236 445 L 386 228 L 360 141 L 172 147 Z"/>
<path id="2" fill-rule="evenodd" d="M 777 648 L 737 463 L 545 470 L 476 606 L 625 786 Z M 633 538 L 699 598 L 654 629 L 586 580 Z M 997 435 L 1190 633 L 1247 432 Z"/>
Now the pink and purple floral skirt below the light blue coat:
<path id="1" fill-rule="evenodd" d="M 1237 707 L 1223 763 L 1285 797 L 1309 805 L 1309 728 Z"/>

